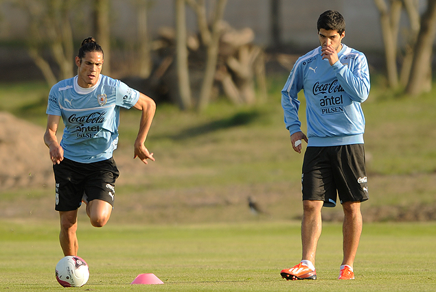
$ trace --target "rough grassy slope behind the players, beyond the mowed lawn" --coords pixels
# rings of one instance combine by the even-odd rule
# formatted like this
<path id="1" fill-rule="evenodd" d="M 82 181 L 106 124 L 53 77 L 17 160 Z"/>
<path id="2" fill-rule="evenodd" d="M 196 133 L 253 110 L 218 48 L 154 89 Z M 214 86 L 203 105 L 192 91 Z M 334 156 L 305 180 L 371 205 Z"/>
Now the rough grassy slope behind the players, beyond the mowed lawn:
<path id="1" fill-rule="evenodd" d="M 362 105 L 370 194 L 363 204 L 364 220 L 419 219 L 422 207 L 426 208 L 424 217 L 432 217 L 436 210 L 436 84 L 431 93 L 406 97 L 394 96 L 378 84 L 376 75 L 373 79 L 369 99 Z M 268 98 L 253 106 L 233 106 L 220 99 L 198 114 L 158 103 L 146 141 L 156 161 L 147 166 L 132 159 L 141 113 L 122 110 L 114 152 L 121 175 L 111 219 L 118 223 L 246 221 L 252 219 L 248 196 L 273 220 L 301 216 L 303 155 L 291 148 L 280 105 L 286 76 L 268 81 Z M 0 84 L 0 110 L 45 127 L 48 90 L 44 84 Z M 302 93 L 300 99 L 306 131 Z M 47 156 L 50 171 L 48 151 L 34 155 Z M 25 170 L 25 175 L 35 172 Z M 0 208 L 13 208 L 10 213 L 15 216 L 53 218 L 53 193 L 54 182 L 25 190 L 3 191 L 0 186 Z M 15 210 L 16 206 L 22 210 Z M 341 208 L 325 211 L 330 213 L 337 218 Z M 0 219 L 3 216 L 0 212 Z"/>

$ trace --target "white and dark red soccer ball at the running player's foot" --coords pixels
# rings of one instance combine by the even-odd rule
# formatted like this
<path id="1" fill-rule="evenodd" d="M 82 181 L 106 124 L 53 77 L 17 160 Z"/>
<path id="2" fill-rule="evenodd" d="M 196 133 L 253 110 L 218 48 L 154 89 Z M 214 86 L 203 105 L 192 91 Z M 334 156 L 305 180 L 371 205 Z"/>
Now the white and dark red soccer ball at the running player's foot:
<path id="1" fill-rule="evenodd" d="M 56 280 L 63 287 L 82 287 L 88 279 L 88 265 L 78 256 L 65 256 L 56 265 Z"/>

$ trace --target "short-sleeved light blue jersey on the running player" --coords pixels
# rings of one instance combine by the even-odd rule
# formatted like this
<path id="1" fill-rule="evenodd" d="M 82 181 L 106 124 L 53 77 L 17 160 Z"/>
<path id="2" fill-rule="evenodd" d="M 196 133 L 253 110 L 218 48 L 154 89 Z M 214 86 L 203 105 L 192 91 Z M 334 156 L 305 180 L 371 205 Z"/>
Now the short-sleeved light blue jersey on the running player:
<path id="1" fill-rule="evenodd" d="M 65 124 L 60 141 L 65 158 L 82 163 L 109 159 L 118 143 L 119 108 L 135 106 L 139 92 L 101 74 L 91 88 L 78 86 L 77 80 L 51 88 L 46 113 L 61 116 Z"/>

